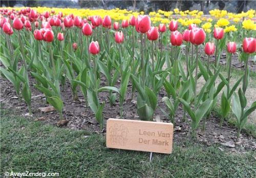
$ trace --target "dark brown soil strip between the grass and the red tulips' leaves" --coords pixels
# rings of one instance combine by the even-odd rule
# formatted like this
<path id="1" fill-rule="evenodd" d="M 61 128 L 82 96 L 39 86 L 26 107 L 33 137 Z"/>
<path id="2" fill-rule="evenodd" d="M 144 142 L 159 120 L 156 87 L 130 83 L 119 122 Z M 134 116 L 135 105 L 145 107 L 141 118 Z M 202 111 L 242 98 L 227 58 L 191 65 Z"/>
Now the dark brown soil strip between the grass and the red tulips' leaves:
<path id="1" fill-rule="evenodd" d="M 35 89 L 33 84 L 35 80 L 30 78 L 31 90 L 32 90 L 32 113 L 33 119 L 35 122 L 42 122 L 45 124 L 57 125 L 59 121 L 59 116 L 56 111 L 49 113 L 42 113 L 39 111 L 39 107 L 50 106 L 46 104 L 46 99 L 39 91 Z M 24 101 L 19 101 L 16 97 L 14 88 L 7 79 L 1 76 L 1 105 L 2 108 L 8 108 L 12 110 L 13 114 L 16 116 L 26 116 L 28 115 L 28 109 Z M 102 78 L 101 86 L 105 86 L 105 80 Z M 119 85 L 119 83 L 118 83 Z M 69 122 L 67 125 L 62 126 L 71 129 L 84 129 L 92 132 L 105 132 L 105 129 L 100 130 L 99 125 L 94 118 L 94 114 L 91 111 L 90 107 L 86 107 L 84 98 L 81 92 L 78 92 L 79 101 L 73 101 L 72 92 L 70 89 L 70 84 L 67 82 L 67 90 L 61 91 L 62 100 L 64 102 L 63 117 L 65 117 Z M 131 85 L 127 90 L 126 100 L 124 102 L 124 119 L 136 119 L 138 120 L 137 108 L 136 108 L 136 96 L 134 100 L 131 101 Z M 161 90 L 158 96 L 158 106 L 163 108 L 167 112 L 167 108 L 161 99 L 166 96 L 165 91 Z M 118 97 L 117 97 L 118 98 Z M 118 118 L 119 116 L 119 102 L 116 101 L 113 107 L 110 106 L 108 101 L 108 92 L 99 93 L 99 99 L 101 102 L 105 102 L 104 107 L 104 122 L 108 118 Z M 169 119 L 161 112 L 159 108 L 156 109 L 155 117 L 159 116 L 161 122 L 169 122 Z M 29 117 L 29 116 L 27 116 Z M 190 117 L 187 115 L 187 122 L 182 122 L 183 110 L 179 106 L 176 114 L 176 123 L 175 123 L 175 132 L 174 132 L 174 142 L 176 144 L 184 145 L 187 139 L 190 139 Z M 212 144 L 221 144 L 220 149 L 227 148 L 230 151 L 244 151 L 248 149 L 256 149 L 256 139 L 248 136 L 242 131 L 241 139 L 237 140 L 236 138 L 237 130 L 236 127 L 230 126 L 227 122 L 224 122 L 223 127 L 219 127 L 219 118 L 212 114 L 210 119 L 207 120 L 206 130 L 202 132 L 200 129 L 197 131 L 197 140 L 195 142 L 204 143 L 209 146 Z"/>

